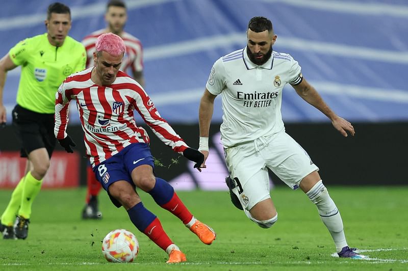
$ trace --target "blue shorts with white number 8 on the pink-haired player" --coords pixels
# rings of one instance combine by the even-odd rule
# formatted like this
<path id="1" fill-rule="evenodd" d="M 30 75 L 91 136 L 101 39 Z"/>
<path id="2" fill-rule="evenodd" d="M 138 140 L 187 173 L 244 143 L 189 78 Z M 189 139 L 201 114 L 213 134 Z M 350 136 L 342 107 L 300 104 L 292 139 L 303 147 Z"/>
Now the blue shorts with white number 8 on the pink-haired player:
<path id="1" fill-rule="evenodd" d="M 109 194 L 109 185 L 116 181 L 127 181 L 136 188 L 132 180 L 132 171 L 141 165 L 155 168 L 154 158 L 151 156 L 150 147 L 146 143 L 133 143 L 126 146 L 93 168 L 96 179 L 108 192 L 109 198 L 116 207 L 119 208 L 122 205 Z"/>

